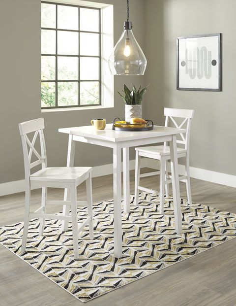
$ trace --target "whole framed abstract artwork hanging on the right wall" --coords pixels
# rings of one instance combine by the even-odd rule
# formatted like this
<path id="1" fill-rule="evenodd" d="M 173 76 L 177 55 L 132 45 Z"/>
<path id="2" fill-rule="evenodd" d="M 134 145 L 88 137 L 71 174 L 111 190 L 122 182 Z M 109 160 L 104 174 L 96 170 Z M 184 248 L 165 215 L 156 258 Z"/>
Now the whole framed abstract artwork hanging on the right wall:
<path id="1" fill-rule="evenodd" d="M 221 34 L 177 37 L 177 89 L 221 91 Z"/>

